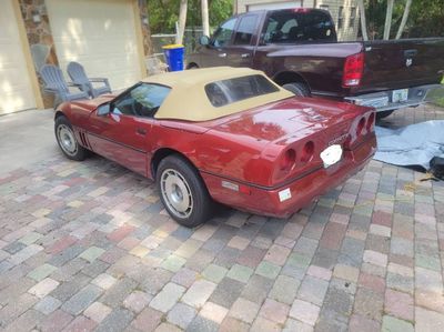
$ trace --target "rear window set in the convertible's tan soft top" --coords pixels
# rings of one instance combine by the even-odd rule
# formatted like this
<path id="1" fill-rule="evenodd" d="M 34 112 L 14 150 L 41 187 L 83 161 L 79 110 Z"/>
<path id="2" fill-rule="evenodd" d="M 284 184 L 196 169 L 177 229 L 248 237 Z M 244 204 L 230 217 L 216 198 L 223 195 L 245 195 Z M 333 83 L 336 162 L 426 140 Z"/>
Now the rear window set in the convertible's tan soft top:
<path id="1" fill-rule="evenodd" d="M 276 91 L 279 89 L 260 74 L 216 81 L 205 85 L 206 97 L 216 108 Z"/>

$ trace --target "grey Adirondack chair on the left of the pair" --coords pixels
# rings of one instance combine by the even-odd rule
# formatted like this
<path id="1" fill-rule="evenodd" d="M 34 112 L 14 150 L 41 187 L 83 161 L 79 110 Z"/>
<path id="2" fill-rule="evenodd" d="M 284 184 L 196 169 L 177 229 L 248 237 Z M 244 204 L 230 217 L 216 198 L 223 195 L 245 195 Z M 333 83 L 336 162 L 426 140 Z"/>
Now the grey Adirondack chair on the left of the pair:
<path id="1" fill-rule="evenodd" d="M 71 101 L 71 100 L 78 100 L 78 99 L 89 99 L 89 95 L 87 92 L 83 91 L 77 91 L 72 92 L 70 91 L 69 87 L 75 87 L 75 84 L 71 82 L 67 82 L 63 78 L 63 73 L 60 70 L 60 68 L 53 66 L 53 64 L 44 64 L 40 68 L 40 77 L 43 80 L 44 87 L 43 91 L 44 92 L 50 92 L 56 94 L 56 100 L 54 100 L 54 108 L 61 102 L 61 101 Z"/>

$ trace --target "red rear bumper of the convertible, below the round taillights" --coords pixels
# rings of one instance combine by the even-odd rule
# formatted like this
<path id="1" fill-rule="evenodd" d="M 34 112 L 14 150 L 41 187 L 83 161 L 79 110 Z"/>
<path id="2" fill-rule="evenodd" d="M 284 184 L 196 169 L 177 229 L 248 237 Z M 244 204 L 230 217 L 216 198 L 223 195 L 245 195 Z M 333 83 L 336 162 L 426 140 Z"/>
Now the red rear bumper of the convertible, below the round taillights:
<path id="1" fill-rule="evenodd" d="M 256 214 L 287 218 L 362 170 L 375 151 L 376 139 L 373 137 L 354 150 L 344 150 L 339 163 L 327 169 L 319 168 L 286 185 L 273 189 L 240 183 L 205 172 L 201 174 L 215 201 Z M 223 181 L 234 185 L 231 189 L 224 188 Z M 239 191 L 235 190 L 236 187 Z M 291 198 L 281 201 L 280 192 L 285 190 L 290 190 Z"/>

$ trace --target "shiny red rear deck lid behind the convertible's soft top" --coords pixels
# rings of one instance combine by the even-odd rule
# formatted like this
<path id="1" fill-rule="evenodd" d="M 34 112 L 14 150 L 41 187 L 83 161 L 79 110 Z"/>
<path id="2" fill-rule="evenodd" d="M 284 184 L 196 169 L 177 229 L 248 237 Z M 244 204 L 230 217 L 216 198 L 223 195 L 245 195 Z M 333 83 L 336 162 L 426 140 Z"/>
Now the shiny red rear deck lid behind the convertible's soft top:
<path id="1" fill-rule="evenodd" d="M 212 130 L 244 135 L 256 141 L 278 142 L 303 138 L 350 122 L 367 108 L 316 98 L 289 98 L 224 118 Z"/>

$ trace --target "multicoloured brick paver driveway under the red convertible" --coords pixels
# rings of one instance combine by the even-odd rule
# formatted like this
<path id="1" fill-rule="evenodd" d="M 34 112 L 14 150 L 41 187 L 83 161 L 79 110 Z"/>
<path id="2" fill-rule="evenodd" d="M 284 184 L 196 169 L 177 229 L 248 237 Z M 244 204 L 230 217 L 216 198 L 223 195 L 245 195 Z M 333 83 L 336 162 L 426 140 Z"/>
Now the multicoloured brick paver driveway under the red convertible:
<path id="1" fill-rule="evenodd" d="M 189 230 L 150 181 L 48 158 L 0 175 L 0 330 L 444 330 L 443 182 L 372 161 L 286 221 Z"/>

